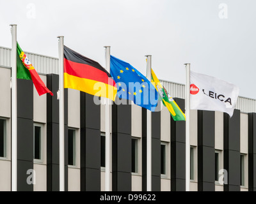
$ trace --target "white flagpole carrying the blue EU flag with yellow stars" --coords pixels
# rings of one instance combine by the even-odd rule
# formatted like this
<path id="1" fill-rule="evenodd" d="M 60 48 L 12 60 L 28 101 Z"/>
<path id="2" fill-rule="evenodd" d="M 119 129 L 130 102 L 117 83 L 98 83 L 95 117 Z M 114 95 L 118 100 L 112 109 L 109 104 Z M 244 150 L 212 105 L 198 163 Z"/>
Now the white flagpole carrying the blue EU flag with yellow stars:
<path id="1" fill-rule="evenodd" d="M 110 73 L 110 46 L 105 46 L 106 56 L 106 70 Z M 107 87 L 108 89 L 108 87 Z M 106 114 L 105 114 L 105 125 L 106 125 L 106 183 L 105 191 L 110 191 L 110 99 L 106 98 Z"/>

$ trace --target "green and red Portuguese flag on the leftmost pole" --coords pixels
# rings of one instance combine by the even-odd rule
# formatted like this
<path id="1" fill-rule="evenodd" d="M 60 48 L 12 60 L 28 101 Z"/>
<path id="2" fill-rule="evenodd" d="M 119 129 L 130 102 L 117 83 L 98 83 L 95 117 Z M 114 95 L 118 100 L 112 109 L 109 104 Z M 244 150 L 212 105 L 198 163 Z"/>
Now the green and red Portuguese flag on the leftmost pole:
<path id="1" fill-rule="evenodd" d="M 47 89 L 42 79 L 39 77 L 36 69 L 33 67 L 28 57 L 19 46 L 17 42 L 17 78 L 32 80 L 35 85 L 36 91 L 39 96 L 49 93 L 53 96 L 52 92 Z"/>

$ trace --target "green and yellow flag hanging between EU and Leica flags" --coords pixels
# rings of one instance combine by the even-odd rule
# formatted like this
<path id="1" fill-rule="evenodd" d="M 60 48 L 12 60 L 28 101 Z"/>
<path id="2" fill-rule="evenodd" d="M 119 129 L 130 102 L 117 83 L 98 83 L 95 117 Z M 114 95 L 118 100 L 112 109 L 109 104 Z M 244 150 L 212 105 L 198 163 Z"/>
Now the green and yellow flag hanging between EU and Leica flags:
<path id="1" fill-rule="evenodd" d="M 177 103 L 173 100 L 173 98 L 168 94 L 166 89 L 163 85 L 159 82 L 158 78 L 156 77 L 153 69 L 151 69 L 151 77 L 152 77 L 152 84 L 155 86 L 157 92 L 159 93 L 159 99 L 163 101 L 163 105 L 168 108 L 169 112 L 172 115 L 173 120 L 186 120 L 185 114 L 180 110 L 180 107 Z"/>

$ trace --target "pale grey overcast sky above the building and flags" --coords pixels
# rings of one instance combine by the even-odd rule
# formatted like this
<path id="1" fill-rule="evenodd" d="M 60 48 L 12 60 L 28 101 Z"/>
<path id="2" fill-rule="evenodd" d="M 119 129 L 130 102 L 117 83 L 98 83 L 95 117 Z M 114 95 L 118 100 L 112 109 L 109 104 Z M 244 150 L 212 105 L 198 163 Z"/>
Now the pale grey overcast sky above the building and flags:
<path id="1" fill-rule="evenodd" d="M 105 67 L 104 46 L 146 75 L 185 84 L 191 70 L 239 87 L 256 99 L 255 0 L 0 0 L 0 46 L 58 57 L 58 38 Z M 172 93 L 170 93 L 172 96 Z"/>

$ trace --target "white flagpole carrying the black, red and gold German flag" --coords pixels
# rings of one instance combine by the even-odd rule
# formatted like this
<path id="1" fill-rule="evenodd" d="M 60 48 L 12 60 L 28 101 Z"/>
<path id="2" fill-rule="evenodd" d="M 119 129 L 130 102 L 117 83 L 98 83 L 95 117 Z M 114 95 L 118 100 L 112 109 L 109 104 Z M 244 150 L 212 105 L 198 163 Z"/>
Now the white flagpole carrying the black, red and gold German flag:
<path id="1" fill-rule="evenodd" d="M 65 191 L 65 131 L 64 131 L 64 64 L 63 64 L 63 50 L 64 50 L 64 37 L 59 38 L 59 89 L 60 89 L 60 191 Z"/>

